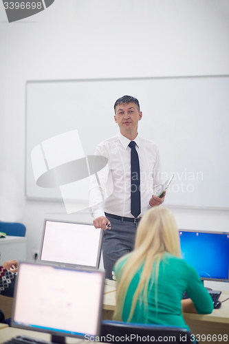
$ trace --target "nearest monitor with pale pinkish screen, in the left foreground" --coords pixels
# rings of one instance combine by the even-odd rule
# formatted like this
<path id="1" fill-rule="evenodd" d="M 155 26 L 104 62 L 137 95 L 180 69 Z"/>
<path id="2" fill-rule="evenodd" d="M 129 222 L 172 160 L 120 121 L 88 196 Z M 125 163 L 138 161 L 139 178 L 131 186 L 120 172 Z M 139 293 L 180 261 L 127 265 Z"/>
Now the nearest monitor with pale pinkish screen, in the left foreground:
<path id="1" fill-rule="evenodd" d="M 41 264 L 19 264 L 12 327 L 65 336 L 99 336 L 104 272 Z"/>

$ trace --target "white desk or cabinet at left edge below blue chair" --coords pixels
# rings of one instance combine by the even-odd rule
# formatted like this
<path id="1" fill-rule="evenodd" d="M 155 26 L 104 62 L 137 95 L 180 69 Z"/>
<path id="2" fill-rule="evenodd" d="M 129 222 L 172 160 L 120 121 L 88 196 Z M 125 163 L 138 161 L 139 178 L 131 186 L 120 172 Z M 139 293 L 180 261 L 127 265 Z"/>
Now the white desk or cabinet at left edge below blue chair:
<path id="1" fill-rule="evenodd" d="M 5 261 L 16 259 L 25 261 L 26 259 L 26 238 L 12 237 L 8 235 L 0 238 L 0 265 Z"/>

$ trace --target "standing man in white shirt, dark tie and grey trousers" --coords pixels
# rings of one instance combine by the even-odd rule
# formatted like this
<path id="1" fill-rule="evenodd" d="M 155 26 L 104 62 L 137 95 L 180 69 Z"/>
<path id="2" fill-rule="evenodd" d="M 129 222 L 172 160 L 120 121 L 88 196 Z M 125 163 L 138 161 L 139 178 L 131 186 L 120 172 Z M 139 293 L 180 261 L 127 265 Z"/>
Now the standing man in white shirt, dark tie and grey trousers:
<path id="1" fill-rule="evenodd" d="M 138 136 L 138 122 L 142 120 L 138 99 L 122 96 L 116 100 L 114 110 L 120 132 L 96 147 L 96 155 L 108 159 L 107 178 L 112 178 L 113 192 L 91 208 L 94 226 L 105 230 L 102 255 L 109 279 L 116 261 L 133 250 L 140 217 L 150 206 L 162 204 L 165 197 L 165 193 L 162 197 L 153 195 L 153 189 L 162 184 L 160 155 L 153 142 Z M 105 187 L 102 181 L 103 195 Z"/>

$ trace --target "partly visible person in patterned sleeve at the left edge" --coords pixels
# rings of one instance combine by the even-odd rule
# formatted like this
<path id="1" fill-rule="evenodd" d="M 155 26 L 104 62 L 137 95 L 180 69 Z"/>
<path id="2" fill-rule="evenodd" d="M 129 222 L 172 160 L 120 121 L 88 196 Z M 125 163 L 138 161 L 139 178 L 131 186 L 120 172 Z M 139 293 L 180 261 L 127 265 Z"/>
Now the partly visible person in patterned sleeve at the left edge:
<path id="1" fill-rule="evenodd" d="M 15 272 L 17 272 L 17 260 L 6 261 L 0 266 L 0 294 L 5 297 L 14 296 Z"/>

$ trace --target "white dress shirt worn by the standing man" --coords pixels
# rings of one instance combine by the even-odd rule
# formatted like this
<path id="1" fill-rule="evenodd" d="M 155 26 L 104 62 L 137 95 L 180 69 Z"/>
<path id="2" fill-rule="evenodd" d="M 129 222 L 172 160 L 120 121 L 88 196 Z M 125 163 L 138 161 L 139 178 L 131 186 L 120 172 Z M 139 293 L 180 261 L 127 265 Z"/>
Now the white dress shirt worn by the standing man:
<path id="1" fill-rule="evenodd" d="M 135 138 L 136 150 L 140 162 L 140 194 L 142 216 L 149 206 L 153 190 L 163 184 L 161 180 L 160 154 L 157 145 L 140 136 Z M 100 186 L 91 182 L 89 197 L 91 199 L 91 213 L 94 218 L 105 216 L 106 213 L 133 217 L 131 214 L 131 148 L 128 138 L 118 133 L 96 147 L 96 155 L 108 159 L 107 169 L 98 173 Z M 107 191 L 108 190 L 108 191 Z M 101 193 L 103 201 L 101 200 Z M 107 197 L 109 195 L 109 197 Z M 95 202 L 95 200 L 100 202 Z"/>

